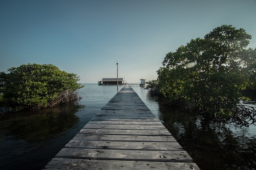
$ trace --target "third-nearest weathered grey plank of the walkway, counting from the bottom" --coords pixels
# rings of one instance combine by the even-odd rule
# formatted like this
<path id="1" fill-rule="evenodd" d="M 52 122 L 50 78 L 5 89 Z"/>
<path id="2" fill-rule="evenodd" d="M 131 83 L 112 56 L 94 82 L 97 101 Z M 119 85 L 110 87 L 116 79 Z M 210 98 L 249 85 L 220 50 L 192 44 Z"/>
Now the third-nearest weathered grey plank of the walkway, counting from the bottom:
<path id="1" fill-rule="evenodd" d="M 86 141 L 71 140 L 65 148 L 129 149 L 129 150 L 183 150 L 177 141 L 173 142 L 130 142 L 130 141 Z"/>

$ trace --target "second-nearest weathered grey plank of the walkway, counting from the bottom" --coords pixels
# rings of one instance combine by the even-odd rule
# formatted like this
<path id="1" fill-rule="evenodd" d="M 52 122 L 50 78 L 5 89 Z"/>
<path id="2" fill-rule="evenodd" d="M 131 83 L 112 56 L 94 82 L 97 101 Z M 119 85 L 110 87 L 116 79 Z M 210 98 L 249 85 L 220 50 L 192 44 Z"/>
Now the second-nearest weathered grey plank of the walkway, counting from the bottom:
<path id="1" fill-rule="evenodd" d="M 184 150 L 111 150 L 63 148 L 56 158 L 100 159 L 156 162 L 193 162 Z"/>

